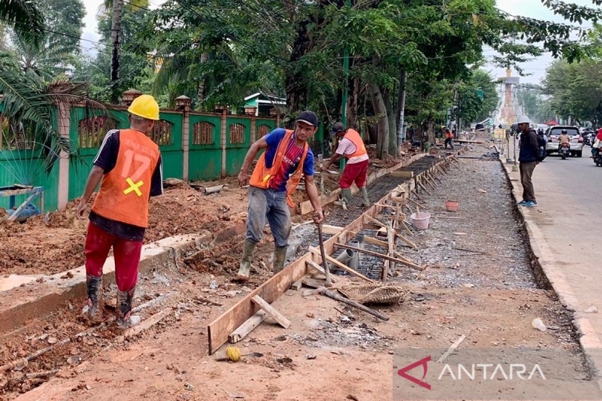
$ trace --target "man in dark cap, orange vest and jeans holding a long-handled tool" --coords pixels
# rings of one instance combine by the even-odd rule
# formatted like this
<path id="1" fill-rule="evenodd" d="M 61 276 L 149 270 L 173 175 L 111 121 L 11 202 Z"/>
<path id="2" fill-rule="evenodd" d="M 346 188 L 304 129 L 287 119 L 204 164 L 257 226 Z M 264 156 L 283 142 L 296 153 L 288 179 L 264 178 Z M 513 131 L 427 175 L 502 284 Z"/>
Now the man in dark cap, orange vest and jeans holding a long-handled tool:
<path id="1" fill-rule="evenodd" d="M 249 182 L 249 206 L 247 209 L 247 234 L 237 280 L 249 280 L 253 252 L 264 236 L 265 221 L 270 223 L 274 236 L 272 271 L 284 269 L 287 257 L 288 237 L 291 233 L 291 214 L 294 207 L 291 194 L 305 177 L 305 191 L 319 224 L 324 219 L 318 189 L 314 182 L 314 154 L 308 139 L 318 130 L 318 117 L 311 111 L 303 111 L 297 117 L 294 130 L 277 128 L 251 145 L 238 174 L 241 187 Z M 249 180 L 249 167 L 259 150 L 265 152 L 259 158 Z"/>

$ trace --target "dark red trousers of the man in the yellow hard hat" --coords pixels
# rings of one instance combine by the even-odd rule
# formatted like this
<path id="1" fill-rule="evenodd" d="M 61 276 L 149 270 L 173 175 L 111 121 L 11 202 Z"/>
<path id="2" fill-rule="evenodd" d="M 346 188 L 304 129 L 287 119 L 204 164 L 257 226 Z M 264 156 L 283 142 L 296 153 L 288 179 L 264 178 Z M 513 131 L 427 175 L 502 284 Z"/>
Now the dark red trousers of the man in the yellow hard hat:
<path id="1" fill-rule="evenodd" d="M 85 239 L 85 272 L 94 277 L 102 276 L 102 266 L 113 246 L 115 259 L 115 278 L 121 292 L 129 291 L 138 280 L 141 241 L 130 241 L 107 233 L 90 222 L 88 236 Z"/>

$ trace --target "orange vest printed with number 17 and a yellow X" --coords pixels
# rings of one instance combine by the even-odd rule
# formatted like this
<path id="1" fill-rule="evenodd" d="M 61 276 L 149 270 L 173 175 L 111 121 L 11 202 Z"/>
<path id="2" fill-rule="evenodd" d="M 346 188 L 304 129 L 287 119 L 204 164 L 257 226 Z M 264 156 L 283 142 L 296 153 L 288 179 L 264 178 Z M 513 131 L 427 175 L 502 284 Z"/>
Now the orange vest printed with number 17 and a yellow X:
<path id="1" fill-rule="evenodd" d="M 157 144 L 140 131 L 120 130 L 117 164 L 102 177 L 92 210 L 104 218 L 146 228 L 159 154 Z"/>

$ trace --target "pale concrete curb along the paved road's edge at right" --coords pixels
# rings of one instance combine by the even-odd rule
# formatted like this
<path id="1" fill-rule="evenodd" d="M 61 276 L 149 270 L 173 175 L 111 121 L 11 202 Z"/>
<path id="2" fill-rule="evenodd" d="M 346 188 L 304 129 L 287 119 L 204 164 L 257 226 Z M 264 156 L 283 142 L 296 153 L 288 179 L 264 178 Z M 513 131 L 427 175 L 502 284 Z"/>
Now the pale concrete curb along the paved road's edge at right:
<path id="1" fill-rule="evenodd" d="M 517 179 L 517 176 L 520 177 L 520 173 L 512 171 L 512 165 L 505 164 L 501 160 L 500 163 L 504 168 L 504 171 L 506 171 L 506 176 L 511 188 L 510 191 L 516 199 L 520 198 L 522 186 L 520 180 Z M 511 178 L 517 180 L 512 181 Z M 594 380 L 598 382 L 598 386 L 602 388 L 602 343 L 595 333 L 594 328 L 592 328 L 588 317 L 583 316 L 582 313 L 578 312 L 579 300 L 573 292 L 573 289 L 571 289 L 562 270 L 558 268 L 559 265 L 556 259 L 554 259 L 553 253 L 548 247 L 544 235 L 536 222 L 533 221 L 531 212 L 531 209 L 518 207 L 518 213 L 520 213 L 527 234 L 529 235 L 529 245 L 538 260 L 542 273 L 550 283 L 551 289 L 556 293 L 563 307 L 573 314 L 573 325 L 579 333 L 579 344 L 583 350 L 583 354 L 585 354 L 589 370 Z"/>

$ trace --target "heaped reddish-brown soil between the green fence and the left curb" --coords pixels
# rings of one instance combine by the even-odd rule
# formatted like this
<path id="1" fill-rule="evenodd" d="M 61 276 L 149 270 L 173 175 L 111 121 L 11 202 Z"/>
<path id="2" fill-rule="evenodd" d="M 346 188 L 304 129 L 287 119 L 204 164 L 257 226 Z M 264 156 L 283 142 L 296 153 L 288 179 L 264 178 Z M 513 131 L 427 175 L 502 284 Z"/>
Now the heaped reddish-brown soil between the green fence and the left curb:
<path id="1" fill-rule="evenodd" d="M 190 186 L 166 188 L 151 198 L 144 242 L 200 230 L 217 231 L 246 219 L 246 189 L 232 180 L 219 194 L 203 195 Z M 205 183 L 205 186 L 215 185 Z M 90 200 L 92 204 L 93 200 Z M 55 274 L 84 263 L 87 220 L 75 218 L 78 200 L 47 217 L 24 224 L 0 222 L 0 275 Z"/>

